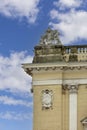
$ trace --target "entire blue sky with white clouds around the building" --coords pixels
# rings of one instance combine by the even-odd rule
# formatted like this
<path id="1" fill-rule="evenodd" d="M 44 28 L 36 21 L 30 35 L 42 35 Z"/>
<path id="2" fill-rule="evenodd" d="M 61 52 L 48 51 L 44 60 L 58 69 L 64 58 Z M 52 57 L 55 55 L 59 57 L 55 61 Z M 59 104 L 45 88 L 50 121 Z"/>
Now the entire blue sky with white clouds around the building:
<path id="1" fill-rule="evenodd" d="M 63 44 L 86 44 L 87 1 L 0 0 L 0 130 L 32 130 L 32 79 L 21 64 L 48 26 Z"/>

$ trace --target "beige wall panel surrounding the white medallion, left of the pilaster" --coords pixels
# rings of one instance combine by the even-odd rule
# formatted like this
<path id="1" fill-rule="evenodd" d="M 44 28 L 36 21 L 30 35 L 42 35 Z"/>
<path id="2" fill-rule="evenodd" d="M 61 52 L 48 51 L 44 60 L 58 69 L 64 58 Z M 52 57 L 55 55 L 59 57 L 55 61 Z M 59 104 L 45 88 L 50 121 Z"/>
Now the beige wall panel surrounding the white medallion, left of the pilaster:
<path id="1" fill-rule="evenodd" d="M 42 110 L 42 90 L 53 90 L 53 108 Z M 34 130 L 62 129 L 62 89 L 60 85 L 34 87 Z"/>

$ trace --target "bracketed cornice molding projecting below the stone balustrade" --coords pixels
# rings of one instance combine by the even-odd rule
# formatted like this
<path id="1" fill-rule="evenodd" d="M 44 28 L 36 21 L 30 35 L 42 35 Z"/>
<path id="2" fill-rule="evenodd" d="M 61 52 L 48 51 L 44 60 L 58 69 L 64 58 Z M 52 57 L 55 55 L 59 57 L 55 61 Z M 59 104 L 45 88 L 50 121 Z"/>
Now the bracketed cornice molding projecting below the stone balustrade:
<path id="1" fill-rule="evenodd" d="M 72 70 L 87 70 L 87 65 L 58 65 L 58 66 L 23 66 L 23 69 L 29 75 L 37 72 L 46 72 L 46 71 L 72 71 Z"/>

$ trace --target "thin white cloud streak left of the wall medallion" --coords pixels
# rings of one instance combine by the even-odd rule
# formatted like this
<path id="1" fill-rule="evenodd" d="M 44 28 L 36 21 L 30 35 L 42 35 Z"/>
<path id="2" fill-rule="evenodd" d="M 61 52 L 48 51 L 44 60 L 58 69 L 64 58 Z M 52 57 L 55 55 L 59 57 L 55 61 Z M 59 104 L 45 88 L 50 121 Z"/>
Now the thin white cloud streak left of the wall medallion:
<path id="1" fill-rule="evenodd" d="M 27 102 L 21 99 L 14 99 L 12 97 L 8 96 L 0 96 L 0 104 L 5 104 L 5 105 L 22 105 L 26 107 L 32 107 L 32 102 Z"/>

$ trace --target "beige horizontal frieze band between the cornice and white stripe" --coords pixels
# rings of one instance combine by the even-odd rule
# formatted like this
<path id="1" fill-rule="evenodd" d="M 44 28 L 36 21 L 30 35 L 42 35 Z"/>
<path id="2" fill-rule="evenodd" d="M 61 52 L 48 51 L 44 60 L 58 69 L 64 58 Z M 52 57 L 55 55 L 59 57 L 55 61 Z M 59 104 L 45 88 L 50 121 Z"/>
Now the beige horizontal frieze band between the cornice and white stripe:
<path id="1" fill-rule="evenodd" d="M 66 71 L 50 71 L 33 74 L 33 81 L 46 80 L 72 80 L 86 79 L 87 71 L 82 70 L 66 70 Z"/>

